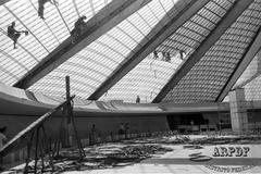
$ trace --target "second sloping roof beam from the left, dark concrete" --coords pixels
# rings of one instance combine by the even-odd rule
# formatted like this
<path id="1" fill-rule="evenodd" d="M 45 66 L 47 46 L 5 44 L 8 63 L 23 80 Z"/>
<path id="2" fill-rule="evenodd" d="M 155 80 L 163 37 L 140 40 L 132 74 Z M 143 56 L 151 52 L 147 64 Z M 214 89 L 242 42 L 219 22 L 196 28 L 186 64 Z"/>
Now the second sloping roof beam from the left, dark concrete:
<path id="1" fill-rule="evenodd" d="M 209 0 L 191 1 L 176 16 L 171 20 L 170 16 L 166 14 L 140 41 L 140 44 L 136 48 L 134 48 L 134 50 L 127 55 L 127 58 L 125 59 L 127 61 L 125 61 L 122 66 L 119 66 L 113 72 L 113 74 L 111 74 L 111 76 L 104 83 L 102 83 L 101 86 L 92 95 L 90 95 L 88 100 L 99 99 L 104 92 L 107 92 L 122 77 L 124 77 L 138 63 L 140 63 L 149 53 L 154 51 L 162 41 L 170 37 L 208 2 Z M 177 3 L 184 3 L 184 1 L 178 1 Z M 176 7 L 173 7 L 170 10 L 169 14 L 175 12 L 175 10 Z"/>

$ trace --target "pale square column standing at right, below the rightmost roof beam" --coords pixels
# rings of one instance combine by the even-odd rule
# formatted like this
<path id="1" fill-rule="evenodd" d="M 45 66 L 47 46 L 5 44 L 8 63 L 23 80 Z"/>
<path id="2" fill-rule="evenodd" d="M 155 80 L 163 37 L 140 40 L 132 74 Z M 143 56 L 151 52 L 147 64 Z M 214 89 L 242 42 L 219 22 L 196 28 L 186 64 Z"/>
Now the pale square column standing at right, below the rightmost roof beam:
<path id="1" fill-rule="evenodd" d="M 232 130 L 241 133 L 248 130 L 247 103 L 244 88 L 229 91 Z"/>

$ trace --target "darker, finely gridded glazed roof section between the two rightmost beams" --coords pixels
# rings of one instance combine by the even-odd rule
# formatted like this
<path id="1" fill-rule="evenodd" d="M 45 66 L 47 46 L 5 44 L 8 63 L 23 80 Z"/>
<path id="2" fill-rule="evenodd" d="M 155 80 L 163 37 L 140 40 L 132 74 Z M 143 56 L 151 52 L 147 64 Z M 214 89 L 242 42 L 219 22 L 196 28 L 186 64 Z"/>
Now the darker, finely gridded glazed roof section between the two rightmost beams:
<path id="1" fill-rule="evenodd" d="M 164 101 L 215 101 L 260 27 L 260 1 L 254 1 L 166 95 Z"/>

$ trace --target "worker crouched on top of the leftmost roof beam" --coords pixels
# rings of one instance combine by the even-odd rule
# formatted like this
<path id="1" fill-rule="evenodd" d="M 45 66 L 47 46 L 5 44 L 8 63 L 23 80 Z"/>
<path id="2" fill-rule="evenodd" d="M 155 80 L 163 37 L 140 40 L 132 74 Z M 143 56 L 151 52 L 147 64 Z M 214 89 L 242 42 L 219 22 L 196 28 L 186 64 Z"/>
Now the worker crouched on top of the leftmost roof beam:
<path id="1" fill-rule="evenodd" d="M 75 44 L 75 41 L 77 40 L 77 38 L 83 35 L 85 27 L 86 27 L 86 23 L 85 20 L 87 17 L 86 16 L 80 16 L 75 23 L 74 23 L 74 29 L 71 32 L 72 35 L 72 44 Z"/>

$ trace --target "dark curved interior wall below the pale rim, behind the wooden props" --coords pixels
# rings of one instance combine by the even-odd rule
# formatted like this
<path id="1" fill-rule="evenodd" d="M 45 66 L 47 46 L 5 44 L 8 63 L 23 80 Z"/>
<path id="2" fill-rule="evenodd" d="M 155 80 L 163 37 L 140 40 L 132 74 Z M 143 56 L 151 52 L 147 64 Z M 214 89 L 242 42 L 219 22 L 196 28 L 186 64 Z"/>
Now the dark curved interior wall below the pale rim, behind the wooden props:
<path id="1" fill-rule="evenodd" d="M 0 115 L 0 127 L 8 127 L 7 137 L 11 139 L 38 117 L 37 115 Z M 61 121 L 62 119 L 59 115 L 46 121 L 45 127 L 48 135 L 52 137 L 57 136 Z M 116 134 L 121 123 L 128 123 L 129 132 L 132 133 L 163 132 L 170 129 L 165 115 L 75 115 L 75 123 L 78 136 L 83 138 L 88 137 L 92 124 L 96 124 L 102 136 L 111 133 Z"/>

